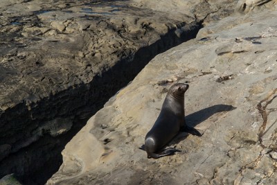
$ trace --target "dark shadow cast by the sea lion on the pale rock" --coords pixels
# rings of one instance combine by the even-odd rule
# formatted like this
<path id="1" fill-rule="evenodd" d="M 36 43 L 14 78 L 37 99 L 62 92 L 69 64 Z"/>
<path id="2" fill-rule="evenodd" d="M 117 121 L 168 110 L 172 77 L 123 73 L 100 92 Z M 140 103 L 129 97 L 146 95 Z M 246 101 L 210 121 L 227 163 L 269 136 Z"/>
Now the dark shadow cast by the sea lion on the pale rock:
<path id="1" fill-rule="evenodd" d="M 227 112 L 231 111 L 233 109 L 236 109 L 237 107 L 233 107 L 232 105 L 213 105 L 211 107 L 207 107 L 205 109 L 199 110 L 193 114 L 190 114 L 188 116 L 185 116 L 186 121 L 186 131 L 180 131 L 177 136 L 175 136 L 172 141 L 168 143 L 167 146 L 171 146 L 173 144 L 179 143 L 180 141 L 183 141 L 188 136 L 188 133 L 196 135 L 196 136 L 202 136 L 198 130 L 196 130 L 194 127 L 198 125 L 199 123 L 202 123 L 209 117 L 213 116 L 213 114 L 216 114 L 217 112 Z M 141 146 L 139 149 L 145 151 L 145 146 Z M 166 148 L 166 146 L 165 146 Z"/>

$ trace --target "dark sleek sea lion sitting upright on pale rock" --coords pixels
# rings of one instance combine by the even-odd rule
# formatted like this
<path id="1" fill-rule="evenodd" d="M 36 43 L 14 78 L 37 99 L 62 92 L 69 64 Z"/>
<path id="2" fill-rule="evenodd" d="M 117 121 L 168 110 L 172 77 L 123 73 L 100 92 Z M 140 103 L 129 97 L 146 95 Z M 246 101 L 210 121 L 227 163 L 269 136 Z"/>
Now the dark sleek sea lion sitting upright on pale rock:
<path id="1" fill-rule="evenodd" d="M 145 136 L 145 151 L 148 158 L 157 159 L 166 155 L 174 155 L 179 151 L 166 146 L 180 131 L 200 133 L 192 127 L 188 127 L 185 121 L 184 94 L 188 90 L 188 84 L 177 83 L 170 87 L 166 99 L 161 107 L 161 112 L 151 130 Z"/>

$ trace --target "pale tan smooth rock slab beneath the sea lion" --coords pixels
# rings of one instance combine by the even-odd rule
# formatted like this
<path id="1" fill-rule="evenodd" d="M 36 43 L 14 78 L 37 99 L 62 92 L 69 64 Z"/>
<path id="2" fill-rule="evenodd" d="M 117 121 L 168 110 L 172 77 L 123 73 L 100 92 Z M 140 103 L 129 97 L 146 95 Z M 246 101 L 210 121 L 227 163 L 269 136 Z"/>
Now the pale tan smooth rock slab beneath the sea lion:
<path id="1" fill-rule="evenodd" d="M 47 184 L 276 184 L 277 11 L 234 15 L 157 55 L 62 151 Z M 169 87 L 187 82 L 174 156 L 139 150 Z"/>

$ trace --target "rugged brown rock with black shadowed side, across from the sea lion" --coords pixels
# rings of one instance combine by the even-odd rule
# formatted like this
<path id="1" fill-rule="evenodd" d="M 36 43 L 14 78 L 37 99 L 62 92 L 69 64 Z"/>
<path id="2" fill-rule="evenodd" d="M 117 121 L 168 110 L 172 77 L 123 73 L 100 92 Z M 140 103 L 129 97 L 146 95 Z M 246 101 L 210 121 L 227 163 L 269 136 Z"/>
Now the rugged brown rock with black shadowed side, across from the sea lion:
<path id="1" fill-rule="evenodd" d="M 118 89 L 235 2 L 2 0 L 0 178 L 46 182 Z"/>

